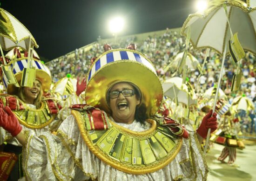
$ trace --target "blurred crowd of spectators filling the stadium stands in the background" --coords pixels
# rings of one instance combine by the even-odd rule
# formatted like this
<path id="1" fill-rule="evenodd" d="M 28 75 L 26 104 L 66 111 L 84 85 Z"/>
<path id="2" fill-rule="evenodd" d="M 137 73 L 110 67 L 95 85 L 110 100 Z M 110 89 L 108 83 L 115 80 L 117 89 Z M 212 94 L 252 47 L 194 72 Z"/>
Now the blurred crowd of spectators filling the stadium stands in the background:
<path id="1" fill-rule="evenodd" d="M 174 76 L 180 76 L 176 73 L 174 67 L 170 67 L 168 71 L 164 71 L 165 67 L 175 58 L 175 56 L 185 50 L 185 39 L 179 35 L 178 32 L 167 29 L 162 35 L 148 36 L 144 40 L 137 41 L 137 37 L 128 39 L 113 39 L 113 42 L 107 42 L 112 48 L 125 48 L 129 43 L 135 43 L 138 51 L 144 53 L 155 65 L 157 73 L 161 79 L 167 79 Z M 85 77 L 91 65 L 91 58 L 99 56 L 103 52 L 103 43 L 96 42 L 93 47 L 85 52 L 82 49 L 76 49 L 73 56 L 62 56 L 47 63 L 47 66 L 52 72 L 53 80 L 56 82 L 58 79 L 66 76 L 67 73 L 76 77 Z M 199 64 L 203 64 L 206 49 L 193 50 L 192 46 L 189 52 L 198 60 Z M 200 86 L 197 86 L 196 94 L 200 96 L 206 89 L 217 84 L 219 71 L 221 69 L 221 59 L 215 51 L 209 52 L 207 63 L 205 64 L 201 78 L 199 79 Z M 233 98 L 237 95 L 245 94 L 255 104 L 256 107 L 256 79 L 255 69 L 256 57 L 251 53 L 246 53 L 246 57 L 241 64 L 243 77 L 241 80 L 241 88 L 239 92 L 233 93 L 230 90 L 233 75 L 236 73 L 237 65 L 230 58 L 226 57 L 224 63 L 224 71 L 222 74 L 221 89 L 229 97 L 231 103 Z M 197 78 L 200 74 L 198 69 L 190 70 L 188 72 L 189 82 L 193 85 L 196 84 Z M 243 128 L 247 132 L 256 131 L 256 118 L 255 110 L 249 114 L 252 121 L 244 121 Z M 255 119 L 254 119 L 255 118 Z M 250 130 L 249 130 L 250 129 Z"/>

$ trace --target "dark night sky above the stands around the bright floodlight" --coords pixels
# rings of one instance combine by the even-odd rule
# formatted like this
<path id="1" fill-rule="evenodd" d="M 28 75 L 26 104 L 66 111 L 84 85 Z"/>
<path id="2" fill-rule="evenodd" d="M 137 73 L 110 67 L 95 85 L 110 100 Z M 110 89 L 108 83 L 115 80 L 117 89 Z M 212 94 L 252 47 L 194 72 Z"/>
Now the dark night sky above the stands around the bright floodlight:
<path id="1" fill-rule="evenodd" d="M 34 36 L 41 57 L 49 60 L 111 38 L 108 20 L 125 19 L 125 31 L 118 36 L 181 27 L 195 0 L 0 0 Z"/>

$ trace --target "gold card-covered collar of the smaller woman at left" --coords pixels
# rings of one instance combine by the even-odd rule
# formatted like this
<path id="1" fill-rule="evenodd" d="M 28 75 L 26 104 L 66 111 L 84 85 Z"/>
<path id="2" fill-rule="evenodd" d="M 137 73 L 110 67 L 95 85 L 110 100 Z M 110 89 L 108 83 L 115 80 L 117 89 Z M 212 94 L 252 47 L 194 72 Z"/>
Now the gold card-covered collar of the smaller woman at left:
<path id="1" fill-rule="evenodd" d="M 20 102 L 22 102 L 19 99 Z M 13 110 L 20 124 L 27 128 L 40 129 L 50 124 L 56 114 L 50 114 L 49 107 L 46 101 L 41 102 L 40 109 L 30 108 L 26 103 L 23 103 L 24 109 Z"/>

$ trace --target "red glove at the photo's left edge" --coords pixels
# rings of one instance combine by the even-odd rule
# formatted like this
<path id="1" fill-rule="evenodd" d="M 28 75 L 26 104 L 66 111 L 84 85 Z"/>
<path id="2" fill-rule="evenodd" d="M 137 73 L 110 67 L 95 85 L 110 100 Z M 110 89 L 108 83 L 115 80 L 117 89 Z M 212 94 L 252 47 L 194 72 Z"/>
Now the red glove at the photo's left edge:
<path id="1" fill-rule="evenodd" d="M 13 137 L 17 136 L 22 130 L 17 117 L 9 107 L 4 107 L 4 109 L 1 107 L 2 106 L 0 106 L 0 126 L 11 133 Z"/>

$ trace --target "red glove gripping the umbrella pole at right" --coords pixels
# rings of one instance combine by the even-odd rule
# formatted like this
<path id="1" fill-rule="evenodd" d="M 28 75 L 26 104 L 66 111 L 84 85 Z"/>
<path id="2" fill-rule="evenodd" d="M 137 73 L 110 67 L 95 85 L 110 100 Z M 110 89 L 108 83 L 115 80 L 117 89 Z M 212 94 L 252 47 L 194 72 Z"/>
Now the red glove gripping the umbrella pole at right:
<path id="1" fill-rule="evenodd" d="M 210 110 L 210 112 L 202 118 L 202 123 L 199 126 L 199 128 L 196 130 L 196 132 L 203 138 L 207 137 L 208 129 L 211 129 L 211 133 L 212 133 L 218 128 L 216 112 L 213 113 L 212 116 L 211 115 L 212 115 L 212 110 Z"/>

